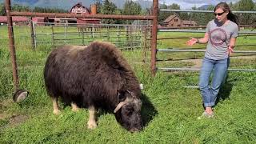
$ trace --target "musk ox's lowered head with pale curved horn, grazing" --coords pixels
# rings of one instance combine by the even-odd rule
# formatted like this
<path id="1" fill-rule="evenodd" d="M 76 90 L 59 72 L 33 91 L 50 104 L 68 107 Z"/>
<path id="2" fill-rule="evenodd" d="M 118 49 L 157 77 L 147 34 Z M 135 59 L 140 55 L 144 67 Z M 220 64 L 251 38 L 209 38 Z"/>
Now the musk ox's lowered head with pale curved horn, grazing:
<path id="1" fill-rule="evenodd" d="M 129 90 L 118 97 L 123 101 L 114 110 L 117 121 L 130 132 L 142 130 L 142 101 Z"/>

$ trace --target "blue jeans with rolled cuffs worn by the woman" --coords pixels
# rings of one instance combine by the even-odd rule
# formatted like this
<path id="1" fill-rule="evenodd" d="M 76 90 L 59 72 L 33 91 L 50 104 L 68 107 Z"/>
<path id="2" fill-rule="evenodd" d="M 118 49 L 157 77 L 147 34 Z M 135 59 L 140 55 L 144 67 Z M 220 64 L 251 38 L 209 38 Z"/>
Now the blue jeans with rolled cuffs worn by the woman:
<path id="1" fill-rule="evenodd" d="M 205 107 L 215 105 L 218 91 L 222 86 L 227 74 L 227 69 L 230 63 L 230 58 L 213 60 L 210 58 L 203 58 L 202 67 L 199 77 L 199 88 L 202 94 L 202 100 Z M 213 71 L 213 79 L 210 83 L 210 74 Z"/>

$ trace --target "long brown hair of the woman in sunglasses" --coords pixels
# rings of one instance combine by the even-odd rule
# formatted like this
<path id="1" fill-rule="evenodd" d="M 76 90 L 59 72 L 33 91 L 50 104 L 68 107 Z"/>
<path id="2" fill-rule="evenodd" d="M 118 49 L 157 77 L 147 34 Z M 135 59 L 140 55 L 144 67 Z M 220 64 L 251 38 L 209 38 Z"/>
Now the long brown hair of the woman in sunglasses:
<path id="1" fill-rule="evenodd" d="M 232 13 L 230 6 L 226 2 L 219 2 L 218 5 L 214 7 L 214 11 L 216 11 L 218 8 L 221 8 L 224 12 L 229 12 L 229 14 L 227 14 L 227 19 L 236 23 L 237 25 L 239 24 L 238 16 Z"/>

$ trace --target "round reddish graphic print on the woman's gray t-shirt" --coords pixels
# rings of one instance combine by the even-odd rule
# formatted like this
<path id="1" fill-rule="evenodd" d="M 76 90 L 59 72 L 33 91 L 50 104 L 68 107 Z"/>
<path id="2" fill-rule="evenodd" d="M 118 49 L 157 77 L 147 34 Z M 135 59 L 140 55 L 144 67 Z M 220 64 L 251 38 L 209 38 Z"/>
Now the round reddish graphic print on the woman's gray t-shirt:
<path id="1" fill-rule="evenodd" d="M 210 31 L 210 42 L 214 46 L 220 46 L 226 41 L 227 35 L 225 30 L 216 28 Z"/>

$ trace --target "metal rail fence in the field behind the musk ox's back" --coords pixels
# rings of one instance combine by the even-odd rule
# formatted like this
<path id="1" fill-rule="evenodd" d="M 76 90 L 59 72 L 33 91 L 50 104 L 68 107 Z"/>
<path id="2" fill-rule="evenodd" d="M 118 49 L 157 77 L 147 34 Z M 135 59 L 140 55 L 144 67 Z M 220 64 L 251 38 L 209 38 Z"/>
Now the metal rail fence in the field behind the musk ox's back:
<path id="1" fill-rule="evenodd" d="M 122 50 L 150 50 L 151 27 L 146 25 L 121 24 L 78 24 L 33 22 L 31 36 L 34 49 L 37 46 L 51 44 L 88 45 L 93 41 L 112 42 Z"/>

